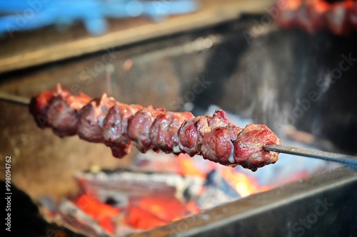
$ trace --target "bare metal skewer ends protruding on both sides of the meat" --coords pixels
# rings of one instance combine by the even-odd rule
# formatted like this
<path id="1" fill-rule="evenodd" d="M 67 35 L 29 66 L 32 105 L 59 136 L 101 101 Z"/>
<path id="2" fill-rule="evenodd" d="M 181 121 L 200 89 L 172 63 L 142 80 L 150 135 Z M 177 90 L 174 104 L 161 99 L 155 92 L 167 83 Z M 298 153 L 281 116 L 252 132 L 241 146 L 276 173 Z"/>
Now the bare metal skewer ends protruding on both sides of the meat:
<path id="1" fill-rule="evenodd" d="M 16 105 L 29 106 L 30 99 L 24 98 L 18 95 L 11 95 L 8 93 L 0 92 L 0 100 L 11 102 Z M 303 149 L 298 147 L 288 147 L 278 144 L 270 144 L 264 149 L 268 152 L 280 152 L 286 154 L 294 154 L 303 157 L 312 157 L 317 159 L 324 159 L 330 162 L 338 162 L 341 164 L 347 164 L 349 167 L 357 168 L 357 157 L 348 156 L 345 154 L 338 154 L 332 152 L 321 152 L 313 149 Z"/>

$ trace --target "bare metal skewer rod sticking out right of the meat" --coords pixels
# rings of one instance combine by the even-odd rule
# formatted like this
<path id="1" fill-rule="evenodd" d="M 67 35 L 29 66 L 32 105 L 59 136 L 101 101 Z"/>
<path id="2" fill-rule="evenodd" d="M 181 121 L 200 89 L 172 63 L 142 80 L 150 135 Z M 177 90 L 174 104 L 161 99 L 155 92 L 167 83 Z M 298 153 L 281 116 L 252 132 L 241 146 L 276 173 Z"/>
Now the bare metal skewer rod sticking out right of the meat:
<path id="1" fill-rule="evenodd" d="M 286 154 L 295 154 L 303 157 L 313 157 L 317 159 L 324 159 L 329 162 L 338 162 L 347 164 L 349 167 L 357 168 L 357 157 L 349 156 L 346 154 L 338 154 L 332 152 L 321 152 L 313 149 L 304 149 L 298 147 L 288 147 L 278 144 L 271 144 L 264 149 L 268 152 L 281 152 Z"/>

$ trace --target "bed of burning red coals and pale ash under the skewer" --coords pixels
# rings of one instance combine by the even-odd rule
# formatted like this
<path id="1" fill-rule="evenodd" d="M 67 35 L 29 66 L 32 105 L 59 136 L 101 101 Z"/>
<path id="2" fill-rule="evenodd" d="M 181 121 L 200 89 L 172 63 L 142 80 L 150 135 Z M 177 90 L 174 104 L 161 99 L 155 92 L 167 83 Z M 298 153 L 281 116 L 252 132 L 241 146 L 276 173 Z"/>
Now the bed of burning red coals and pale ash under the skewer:
<path id="1" fill-rule="evenodd" d="M 211 106 L 207 114 L 216 108 Z M 241 127 L 251 123 L 236 115 L 228 117 Z M 283 144 L 306 147 L 293 140 L 284 140 Z M 42 206 L 49 220 L 85 236 L 126 236 L 337 166 L 280 154 L 276 164 L 251 172 L 200 156 L 139 153 L 129 169 L 93 167 L 75 174 L 80 194 L 62 200 L 55 208 L 48 200 Z"/>

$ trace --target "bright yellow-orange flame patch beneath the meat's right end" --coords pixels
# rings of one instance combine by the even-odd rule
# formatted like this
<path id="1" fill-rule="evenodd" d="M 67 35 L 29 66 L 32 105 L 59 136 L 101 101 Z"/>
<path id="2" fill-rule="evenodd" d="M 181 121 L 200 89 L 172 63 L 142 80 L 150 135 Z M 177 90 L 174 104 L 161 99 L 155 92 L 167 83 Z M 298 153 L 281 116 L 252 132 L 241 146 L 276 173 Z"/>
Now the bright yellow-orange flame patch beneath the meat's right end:
<path id="1" fill-rule="evenodd" d="M 237 191 L 241 197 L 256 194 L 271 189 L 271 186 L 259 186 L 258 181 L 248 174 L 243 174 L 236 169 L 221 169 L 221 176 Z"/>

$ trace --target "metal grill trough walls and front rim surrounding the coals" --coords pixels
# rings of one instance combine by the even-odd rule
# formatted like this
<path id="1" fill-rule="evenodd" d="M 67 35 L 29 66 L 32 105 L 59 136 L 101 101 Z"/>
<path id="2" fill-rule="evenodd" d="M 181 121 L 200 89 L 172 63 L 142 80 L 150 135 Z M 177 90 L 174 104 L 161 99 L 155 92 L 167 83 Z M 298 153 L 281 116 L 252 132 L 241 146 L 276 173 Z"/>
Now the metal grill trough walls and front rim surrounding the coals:
<path id="1" fill-rule="evenodd" d="M 268 26 L 250 37 L 260 18 L 243 16 L 212 28 L 6 73 L 0 88 L 29 97 L 61 83 L 72 93 L 99 97 L 106 92 L 126 103 L 169 110 L 194 107 L 197 114 L 216 104 L 267 124 L 283 139 L 356 154 L 357 36 Z M 341 62 L 348 70 L 341 70 Z M 23 107 L 5 102 L 0 107 L 6 111 L 0 121 L 6 137 L 1 157 L 12 154 L 13 181 L 33 199 L 73 196 L 78 191 L 74 172 L 93 164 L 127 167 L 135 156 L 133 152 L 118 161 L 101 145 L 39 132 Z M 287 133 L 292 126 L 303 132 Z M 298 167 L 298 162 L 287 166 Z M 313 177 L 131 236 L 357 236 L 356 188 L 356 169 L 328 167 Z"/>

